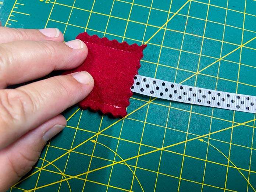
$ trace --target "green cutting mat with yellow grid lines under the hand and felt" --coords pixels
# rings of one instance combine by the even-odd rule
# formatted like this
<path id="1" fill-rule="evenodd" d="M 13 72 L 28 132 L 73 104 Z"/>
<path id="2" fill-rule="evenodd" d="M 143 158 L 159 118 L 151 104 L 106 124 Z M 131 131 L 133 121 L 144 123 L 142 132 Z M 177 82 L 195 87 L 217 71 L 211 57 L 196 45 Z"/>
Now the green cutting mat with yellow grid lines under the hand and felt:
<path id="1" fill-rule="evenodd" d="M 57 27 L 66 41 L 84 31 L 149 40 L 140 75 L 256 95 L 255 0 L 0 0 L 0 8 L 3 25 Z M 66 111 L 67 128 L 10 191 L 255 191 L 254 114 L 137 94 L 130 102 L 123 119 Z"/>

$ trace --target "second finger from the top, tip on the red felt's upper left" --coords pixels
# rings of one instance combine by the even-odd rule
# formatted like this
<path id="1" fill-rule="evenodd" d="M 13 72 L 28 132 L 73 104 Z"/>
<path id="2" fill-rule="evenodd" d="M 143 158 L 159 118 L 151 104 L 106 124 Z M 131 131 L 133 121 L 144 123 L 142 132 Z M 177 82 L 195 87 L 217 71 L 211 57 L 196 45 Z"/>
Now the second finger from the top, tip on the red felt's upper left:
<path id="1" fill-rule="evenodd" d="M 67 46 L 68 45 L 68 46 Z M 74 49 L 74 46 L 76 49 Z M 71 48 L 72 47 L 72 48 Z M 78 67 L 88 53 L 81 40 L 16 41 L 0 44 L 0 89 Z"/>

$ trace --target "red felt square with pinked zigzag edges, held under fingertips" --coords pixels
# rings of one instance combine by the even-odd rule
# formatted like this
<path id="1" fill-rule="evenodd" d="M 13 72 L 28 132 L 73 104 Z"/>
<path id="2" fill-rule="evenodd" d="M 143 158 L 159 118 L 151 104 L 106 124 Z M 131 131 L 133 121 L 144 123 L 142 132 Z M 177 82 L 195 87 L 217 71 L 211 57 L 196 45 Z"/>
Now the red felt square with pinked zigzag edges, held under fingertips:
<path id="1" fill-rule="evenodd" d="M 88 33 L 79 34 L 77 39 L 87 45 L 88 56 L 82 65 L 64 74 L 88 71 L 95 81 L 92 92 L 79 106 L 114 117 L 125 117 L 132 96 L 131 86 L 141 67 L 142 51 L 146 45 L 128 45 L 127 42 L 110 41 Z"/>

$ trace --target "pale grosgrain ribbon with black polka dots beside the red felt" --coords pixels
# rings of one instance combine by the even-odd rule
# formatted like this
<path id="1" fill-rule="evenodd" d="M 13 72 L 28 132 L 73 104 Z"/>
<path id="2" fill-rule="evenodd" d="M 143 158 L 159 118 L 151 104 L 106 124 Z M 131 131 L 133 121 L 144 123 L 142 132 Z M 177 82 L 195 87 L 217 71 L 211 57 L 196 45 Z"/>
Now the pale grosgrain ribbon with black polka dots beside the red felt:
<path id="1" fill-rule="evenodd" d="M 161 99 L 256 113 L 256 97 L 202 89 L 136 75 L 132 92 Z"/>

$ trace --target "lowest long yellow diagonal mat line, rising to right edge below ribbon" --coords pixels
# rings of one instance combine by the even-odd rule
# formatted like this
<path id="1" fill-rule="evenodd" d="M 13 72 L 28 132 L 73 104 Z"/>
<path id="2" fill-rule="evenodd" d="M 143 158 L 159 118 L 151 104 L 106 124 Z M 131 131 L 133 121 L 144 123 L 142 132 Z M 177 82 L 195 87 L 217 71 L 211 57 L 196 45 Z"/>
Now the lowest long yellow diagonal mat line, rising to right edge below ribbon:
<path id="1" fill-rule="evenodd" d="M 113 165 L 118 164 L 118 163 L 123 163 L 124 161 L 128 161 L 128 160 L 131 160 L 131 159 L 135 159 L 135 158 L 137 158 L 137 157 L 141 157 L 141 156 L 144 156 L 144 155 L 147 155 L 147 154 L 150 154 L 150 153 L 154 153 L 154 152 L 157 152 L 157 151 L 159 151 L 159 150 L 167 149 L 167 148 L 169 148 L 169 147 L 177 146 L 177 145 L 180 145 L 180 144 L 182 144 L 182 143 L 186 143 L 186 142 L 189 142 L 189 141 L 194 141 L 194 140 L 196 140 L 196 139 L 200 139 L 200 138 L 203 138 L 203 137 L 212 135 L 212 134 L 216 134 L 216 133 L 219 133 L 219 132 L 222 132 L 222 131 L 226 131 L 226 130 L 228 130 L 228 129 L 232 129 L 232 128 L 234 128 L 234 127 L 238 127 L 238 126 L 240 126 L 240 125 L 244 125 L 244 124 L 247 124 L 247 123 L 249 123 L 249 122 L 253 122 L 253 121 L 255 121 L 255 120 L 256 120 L 256 119 L 253 119 L 253 120 L 250 120 L 250 121 L 246 121 L 246 122 L 243 122 L 243 123 L 240 123 L 240 124 L 231 126 L 231 127 L 227 127 L 227 128 L 225 128 L 225 129 L 221 129 L 221 130 L 219 130 L 219 131 L 214 131 L 214 132 L 209 133 L 209 134 L 201 135 L 201 136 L 198 136 L 198 137 L 195 137 L 195 138 L 192 138 L 192 139 L 188 139 L 188 140 L 186 140 L 186 141 L 178 142 L 178 143 L 175 143 L 175 144 L 173 144 L 173 145 L 166 146 L 166 147 L 162 147 L 162 148 L 159 148 L 159 149 L 156 149 L 156 150 L 147 152 L 147 153 L 139 154 L 139 155 L 137 155 L 137 156 L 130 157 L 130 158 L 128 158 L 128 159 L 124 159 L 124 160 L 121 160 L 121 161 L 118 161 L 118 162 L 115 162 L 115 163 L 111 163 L 111 164 L 109 164 L 109 165 L 107 165 L 107 166 L 103 166 L 103 167 L 96 168 L 96 169 L 91 170 L 91 171 L 87 171 L 86 173 L 81 173 L 81 174 L 72 176 L 72 177 L 70 177 L 70 178 L 63 179 L 62 181 L 69 180 L 69 179 L 72 179 L 72 178 L 75 178 L 75 177 L 80 177 L 80 176 L 82 176 L 82 175 L 85 175 L 85 174 L 88 174 L 88 173 L 92 173 L 92 172 L 94 172 L 94 171 L 98 171 L 98 170 L 101 170 L 101 169 L 106 168 L 106 167 L 113 166 Z M 46 186 L 54 185 L 54 184 L 60 183 L 60 182 L 62 182 L 62 181 L 56 181 L 56 182 L 53 182 L 53 183 L 50 183 L 50 184 L 47 184 L 47 185 L 40 186 L 40 187 L 38 187 L 38 188 L 36 188 L 36 189 L 40 189 L 40 188 L 44 188 L 44 187 L 46 187 Z"/>

